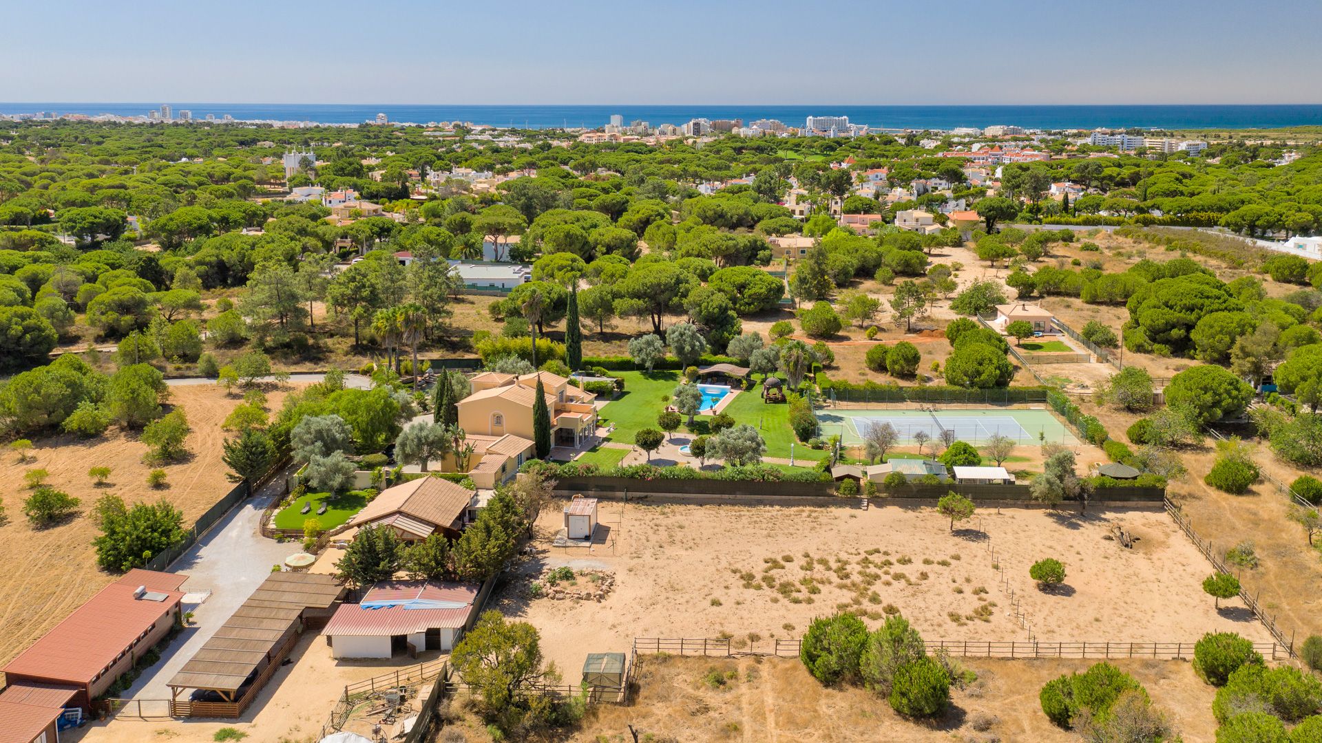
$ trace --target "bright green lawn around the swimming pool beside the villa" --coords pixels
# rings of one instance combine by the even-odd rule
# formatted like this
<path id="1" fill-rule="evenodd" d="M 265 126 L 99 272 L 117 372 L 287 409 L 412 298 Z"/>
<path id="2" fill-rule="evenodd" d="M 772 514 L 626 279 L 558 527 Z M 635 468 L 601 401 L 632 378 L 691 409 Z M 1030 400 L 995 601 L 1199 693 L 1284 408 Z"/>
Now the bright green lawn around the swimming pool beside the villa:
<path id="1" fill-rule="evenodd" d="M 657 415 L 665 410 L 661 398 L 680 386 L 681 377 L 678 372 L 653 372 L 652 374 L 616 372 L 615 374 L 624 378 L 624 395 L 608 402 L 598 416 L 603 426 L 615 424 L 615 432 L 609 436 L 612 442 L 632 444 L 635 434 L 642 428 L 657 427 Z M 768 405 L 761 402 L 761 382 L 754 389 L 735 395 L 722 412 L 734 418 L 735 423 L 747 423 L 758 428 L 763 440 L 767 442 L 764 456 L 789 457 L 789 444 L 795 443 L 795 431 L 789 427 L 789 403 Z M 706 422 L 710 419 L 709 415 L 698 415 L 694 419 L 695 432 L 705 434 Z M 826 452 L 822 450 L 808 448 L 808 444 L 802 442 L 795 443 L 796 461 L 817 461 L 825 456 Z"/>

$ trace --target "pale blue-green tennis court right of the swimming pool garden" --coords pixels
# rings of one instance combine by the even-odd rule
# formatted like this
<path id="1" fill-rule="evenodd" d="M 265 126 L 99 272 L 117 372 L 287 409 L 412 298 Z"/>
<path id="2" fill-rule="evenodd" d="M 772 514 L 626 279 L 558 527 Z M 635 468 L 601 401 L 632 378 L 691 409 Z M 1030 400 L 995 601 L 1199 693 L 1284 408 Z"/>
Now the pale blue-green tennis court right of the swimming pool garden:
<path id="1" fill-rule="evenodd" d="M 943 431 L 953 431 L 956 439 L 974 446 L 994 435 L 1021 444 L 1079 443 L 1050 410 L 829 410 L 817 412 L 817 423 L 822 438 L 838 435 L 845 446 L 863 443 L 870 426 L 886 424 L 899 432 L 902 443 L 914 443 L 919 432 L 940 439 Z"/>

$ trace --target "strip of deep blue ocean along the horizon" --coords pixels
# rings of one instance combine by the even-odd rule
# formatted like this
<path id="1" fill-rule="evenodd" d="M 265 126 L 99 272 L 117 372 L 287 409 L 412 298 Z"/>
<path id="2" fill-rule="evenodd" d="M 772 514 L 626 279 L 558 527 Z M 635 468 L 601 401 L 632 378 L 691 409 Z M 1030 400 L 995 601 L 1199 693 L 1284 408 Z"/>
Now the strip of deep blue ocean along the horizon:
<path id="1" fill-rule="evenodd" d="M 884 130 L 953 130 L 1011 124 L 1025 128 L 1162 128 L 1244 130 L 1322 126 L 1322 104 L 1277 106 L 420 106 L 420 104 L 301 104 L 301 103 L 175 103 L 194 119 L 229 114 L 239 120 L 317 122 L 349 124 L 386 114 L 391 122 L 471 122 L 497 127 L 588 127 L 609 123 L 619 114 L 628 124 L 682 124 L 689 119 L 779 119 L 804 126 L 808 116 L 849 116 L 855 124 Z M 160 103 L 0 103 L 0 114 L 111 114 L 143 116 Z"/>

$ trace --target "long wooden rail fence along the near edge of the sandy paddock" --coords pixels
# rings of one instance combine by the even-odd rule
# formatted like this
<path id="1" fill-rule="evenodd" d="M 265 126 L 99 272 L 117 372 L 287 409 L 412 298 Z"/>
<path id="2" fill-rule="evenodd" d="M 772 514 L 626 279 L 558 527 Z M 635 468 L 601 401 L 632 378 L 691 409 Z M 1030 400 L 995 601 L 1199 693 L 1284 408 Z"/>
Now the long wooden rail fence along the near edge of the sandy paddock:
<path id="1" fill-rule="evenodd" d="M 735 648 L 724 637 L 637 637 L 635 654 L 668 653 L 673 656 L 776 656 L 797 657 L 801 640 L 767 640 Z M 1194 657 L 1194 643 L 1039 643 L 1015 640 L 925 640 L 928 653 L 944 650 L 952 656 L 969 658 L 1157 658 L 1188 660 Z M 1268 660 L 1286 660 L 1289 648 L 1277 643 L 1255 643 L 1253 649 Z"/>

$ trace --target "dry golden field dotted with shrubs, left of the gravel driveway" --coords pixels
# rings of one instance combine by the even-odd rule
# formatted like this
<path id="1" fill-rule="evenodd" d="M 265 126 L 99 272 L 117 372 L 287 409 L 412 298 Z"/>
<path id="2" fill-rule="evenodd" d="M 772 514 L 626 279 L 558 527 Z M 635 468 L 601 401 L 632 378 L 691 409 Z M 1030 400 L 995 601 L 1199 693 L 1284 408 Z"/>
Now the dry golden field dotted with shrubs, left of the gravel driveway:
<path id="1" fill-rule="evenodd" d="M 268 407 L 279 409 L 283 397 L 282 391 L 268 394 Z M 91 440 L 73 436 L 34 440 L 33 463 L 19 464 L 8 451 L 0 457 L 0 483 L 8 485 L 0 489 L 0 500 L 9 517 L 9 522 L 0 526 L 0 565 L 5 566 L 0 572 L 0 627 L 4 628 L 0 665 L 114 579 L 97 567 L 91 541 L 98 530 L 86 516 L 50 529 L 29 526 L 22 514 L 22 501 L 29 492 L 22 487 L 24 472 L 48 469 L 46 483 L 79 498 L 83 513 L 107 493 L 130 504 L 165 498 L 184 512 L 185 525 L 192 525 L 234 487 L 225 479 L 229 468 L 221 461 L 225 440 L 221 423 L 242 399 L 227 397 L 217 386 L 198 385 L 171 387 L 169 402 L 188 414 L 193 432 L 186 446 L 192 456 L 164 467 L 169 488 L 161 490 L 147 487 L 147 473 L 153 467 L 141 460 L 149 447 L 137 440 L 137 434 L 115 428 Z M 111 468 L 107 487 L 93 485 L 87 476 L 91 467 Z"/>

